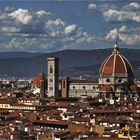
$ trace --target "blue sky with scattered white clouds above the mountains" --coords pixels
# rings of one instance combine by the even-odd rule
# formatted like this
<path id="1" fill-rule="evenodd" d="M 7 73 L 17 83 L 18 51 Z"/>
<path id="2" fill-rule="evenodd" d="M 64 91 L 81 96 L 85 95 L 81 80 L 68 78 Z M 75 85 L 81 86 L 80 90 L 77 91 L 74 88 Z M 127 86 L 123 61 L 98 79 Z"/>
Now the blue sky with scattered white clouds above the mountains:
<path id="1" fill-rule="evenodd" d="M 140 49 L 140 2 L 0 1 L 0 51 Z"/>

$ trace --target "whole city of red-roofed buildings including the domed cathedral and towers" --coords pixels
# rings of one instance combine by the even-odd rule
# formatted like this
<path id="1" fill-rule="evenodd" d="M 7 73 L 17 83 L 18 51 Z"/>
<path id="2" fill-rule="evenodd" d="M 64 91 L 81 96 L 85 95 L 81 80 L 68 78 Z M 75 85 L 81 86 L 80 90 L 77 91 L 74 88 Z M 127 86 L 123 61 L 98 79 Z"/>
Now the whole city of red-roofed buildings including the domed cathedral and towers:
<path id="1" fill-rule="evenodd" d="M 1 140 L 140 140 L 140 84 L 119 45 L 98 79 L 59 76 L 48 58 L 33 80 L 0 82 Z"/>

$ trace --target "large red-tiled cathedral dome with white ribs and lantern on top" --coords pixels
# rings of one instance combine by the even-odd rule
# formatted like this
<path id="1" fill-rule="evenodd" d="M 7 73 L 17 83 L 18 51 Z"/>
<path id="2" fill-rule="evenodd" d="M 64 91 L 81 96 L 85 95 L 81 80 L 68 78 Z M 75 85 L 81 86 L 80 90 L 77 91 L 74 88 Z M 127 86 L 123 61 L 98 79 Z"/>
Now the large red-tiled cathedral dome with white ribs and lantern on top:
<path id="1" fill-rule="evenodd" d="M 121 55 L 119 46 L 116 43 L 114 50 L 100 67 L 100 77 L 116 76 L 129 77 L 133 79 L 133 69 L 129 61 Z"/>

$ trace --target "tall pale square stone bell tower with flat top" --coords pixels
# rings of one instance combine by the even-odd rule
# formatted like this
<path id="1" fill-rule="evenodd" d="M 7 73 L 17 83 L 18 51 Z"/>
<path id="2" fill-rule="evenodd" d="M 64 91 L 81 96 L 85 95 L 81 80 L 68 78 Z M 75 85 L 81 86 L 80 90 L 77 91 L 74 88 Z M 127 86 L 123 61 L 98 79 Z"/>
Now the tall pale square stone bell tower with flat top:
<path id="1" fill-rule="evenodd" d="M 59 59 L 48 57 L 48 97 L 59 96 Z"/>

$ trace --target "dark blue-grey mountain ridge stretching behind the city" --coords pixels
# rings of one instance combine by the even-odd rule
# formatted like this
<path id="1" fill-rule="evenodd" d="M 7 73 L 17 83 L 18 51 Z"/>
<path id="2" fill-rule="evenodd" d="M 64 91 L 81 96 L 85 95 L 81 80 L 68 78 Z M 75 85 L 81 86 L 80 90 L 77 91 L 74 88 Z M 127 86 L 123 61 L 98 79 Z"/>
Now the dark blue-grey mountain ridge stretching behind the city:
<path id="1" fill-rule="evenodd" d="M 47 74 L 47 57 L 59 57 L 60 75 L 79 76 L 99 73 L 99 67 L 104 59 L 112 53 L 113 49 L 96 50 L 63 50 L 52 53 L 29 52 L 1 52 L 0 75 L 15 77 L 28 77 L 37 75 L 42 68 Z M 140 77 L 140 50 L 121 49 L 132 64 L 134 73 Z"/>

